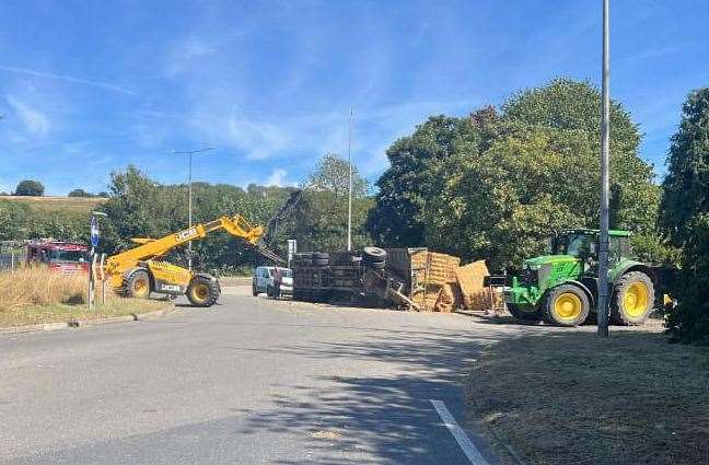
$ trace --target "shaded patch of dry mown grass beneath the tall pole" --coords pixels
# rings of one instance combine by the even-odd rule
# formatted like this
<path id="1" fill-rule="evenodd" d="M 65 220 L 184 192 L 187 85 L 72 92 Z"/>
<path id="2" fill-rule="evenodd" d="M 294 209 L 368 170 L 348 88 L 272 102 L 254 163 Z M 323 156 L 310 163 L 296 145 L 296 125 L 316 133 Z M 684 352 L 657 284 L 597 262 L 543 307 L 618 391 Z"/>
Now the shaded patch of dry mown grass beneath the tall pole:
<path id="1" fill-rule="evenodd" d="M 709 463 L 709 350 L 659 333 L 500 342 L 475 364 L 470 399 L 528 463 Z"/>

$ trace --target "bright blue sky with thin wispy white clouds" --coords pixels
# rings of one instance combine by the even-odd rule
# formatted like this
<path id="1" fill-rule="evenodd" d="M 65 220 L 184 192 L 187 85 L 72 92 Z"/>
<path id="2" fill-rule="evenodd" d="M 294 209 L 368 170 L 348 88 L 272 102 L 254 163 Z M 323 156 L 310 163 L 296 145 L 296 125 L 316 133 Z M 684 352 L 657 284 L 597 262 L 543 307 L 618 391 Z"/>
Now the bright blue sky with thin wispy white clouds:
<path id="1" fill-rule="evenodd" d="M 706 1 L 612 0 L 612 95 L 664 171 L 682 102 L 709 85 Z M 164 183 L 293 184 L 566 75 L 600 82 L 601 0 L 0 2 L 0 190 L 98 191 L 132 163 Z"/>

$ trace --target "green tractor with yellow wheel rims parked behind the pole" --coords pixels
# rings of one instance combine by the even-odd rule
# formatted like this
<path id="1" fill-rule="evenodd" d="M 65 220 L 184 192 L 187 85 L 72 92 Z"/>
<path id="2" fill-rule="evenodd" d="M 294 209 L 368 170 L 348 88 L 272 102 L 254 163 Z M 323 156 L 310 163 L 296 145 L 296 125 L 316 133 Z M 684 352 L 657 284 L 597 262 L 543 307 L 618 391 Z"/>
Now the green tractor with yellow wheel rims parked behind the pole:
<path id="1" fill-rule="evenodd" d="M 597 230 L 567 230 L 551 239 L 550 255 L 524 260 L 522 274 L 504 288 L 513 316 L 559 326 L 583 324 L 597 312 Z M 655 304 L 654 271 L 629 258 L 630 233 L 609 231 L 608 284 L 614 323 L 642 324 Z"/>

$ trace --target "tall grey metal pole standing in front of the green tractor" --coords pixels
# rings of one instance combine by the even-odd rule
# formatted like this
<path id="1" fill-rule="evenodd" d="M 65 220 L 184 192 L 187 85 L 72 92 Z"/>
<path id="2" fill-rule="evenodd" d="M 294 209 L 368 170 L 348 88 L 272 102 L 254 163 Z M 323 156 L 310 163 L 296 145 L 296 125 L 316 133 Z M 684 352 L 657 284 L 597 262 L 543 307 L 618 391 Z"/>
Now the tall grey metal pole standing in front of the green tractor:
<path id="1" fill-rule="evenodd" d="M 601 243 L 598 244 L 598 337 L 608 337 L 608 153 L 611 96 L 608 0 L 603 0 L 603 118 L 601 123 Z"/>

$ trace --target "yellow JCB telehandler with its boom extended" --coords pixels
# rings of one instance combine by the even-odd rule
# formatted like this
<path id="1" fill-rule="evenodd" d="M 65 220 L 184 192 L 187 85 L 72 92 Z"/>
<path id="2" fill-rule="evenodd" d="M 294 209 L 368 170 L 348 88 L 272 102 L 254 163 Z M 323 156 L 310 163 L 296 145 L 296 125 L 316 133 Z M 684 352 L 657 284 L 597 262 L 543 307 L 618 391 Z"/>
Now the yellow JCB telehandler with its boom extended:
<path id="1" fill-rule="evenodd" d="M 253 226 L 241 214 L 224 216 L 164 237 L 132 239 L 131 241 L 139 244 L 138 246 L 106 259 L 105 272 L 109 286 L 117 293 L 126 297 L 144 299 L 150 292 L 168 295 L 187 294 L 193 305 L 213 305 L 221 293 L 216 277 L 206 272 L 195 272 L 161 259 L 175 247 L 189 241 L 201 240 L 207 234 L 220 230 L 256 246 L 259 253 L 274 261 L 282 263 L 278 255 L 265 246 L 264 228 Z"/>

